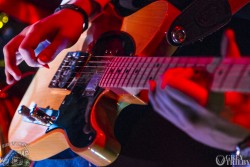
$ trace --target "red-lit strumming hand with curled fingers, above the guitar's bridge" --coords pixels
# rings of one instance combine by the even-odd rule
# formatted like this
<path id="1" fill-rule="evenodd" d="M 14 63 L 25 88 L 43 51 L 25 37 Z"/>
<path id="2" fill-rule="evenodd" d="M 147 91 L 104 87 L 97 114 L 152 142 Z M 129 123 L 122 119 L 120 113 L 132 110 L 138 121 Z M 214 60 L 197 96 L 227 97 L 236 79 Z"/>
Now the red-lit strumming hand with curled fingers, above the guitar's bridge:
<path id="1" fill-rule="evenodd" d="M 46 66 L 60 51 L 77 42 L 83 22 L 78 12 L 64 9 L 26 27 L 4 47 L 7 83 L 21 79 L 18 65 L 23 60 L 31 67 Z M 44 40 L 49 40 L 51 44 L 36 56 L 34 50 Z"/>

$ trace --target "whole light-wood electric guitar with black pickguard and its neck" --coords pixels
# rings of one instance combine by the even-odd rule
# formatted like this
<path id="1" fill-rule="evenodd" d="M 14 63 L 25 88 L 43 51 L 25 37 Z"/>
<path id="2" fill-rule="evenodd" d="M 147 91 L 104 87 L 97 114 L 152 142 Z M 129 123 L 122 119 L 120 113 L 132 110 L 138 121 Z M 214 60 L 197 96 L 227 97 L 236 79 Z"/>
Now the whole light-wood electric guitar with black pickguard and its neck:
<path id="1" fill-rule="evenodd" d="M 154 2 L 123 20 L 126 37 L 117 32 L 102 35 L 92 48 L 93 55 L 72 52 L 72 48 L 60 53 L 49 70 L 38 71 L 24 95 L 9 130 L 10 147 L 35 161 L 70 148 L 97 166 L 109 165 L 121 147 L 113 131 L 121 110 L 118 104 L 145 104 L 131 92 L 147 89 L 148 80 L 157 80 L 169 68 L 204 68 L 214 76 L 211 90 L 250 92 L 249 58 L 130 56 L 153 53 L 179 13 L 165 1 Z M 106 44 L 110 37 L 122 42 Z M 136 46 L 135 51 L 114 56 L 125 54 L 121 46 L 127 43 Z"/>

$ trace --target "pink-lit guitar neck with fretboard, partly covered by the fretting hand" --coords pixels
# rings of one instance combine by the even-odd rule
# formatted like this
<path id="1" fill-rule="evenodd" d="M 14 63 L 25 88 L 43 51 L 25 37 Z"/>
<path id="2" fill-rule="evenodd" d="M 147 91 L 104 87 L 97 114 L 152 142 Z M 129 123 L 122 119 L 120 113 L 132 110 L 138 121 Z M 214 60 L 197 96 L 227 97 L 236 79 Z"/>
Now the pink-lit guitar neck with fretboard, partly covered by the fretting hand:
<path id="1" fill-rule="evenodd" d="M 212 91 L 250 92 L 250 58 L 116 57 L 99 83 L 104 88 L 147 89 L 170 68 L 194 67 L 212 74 Z"/>

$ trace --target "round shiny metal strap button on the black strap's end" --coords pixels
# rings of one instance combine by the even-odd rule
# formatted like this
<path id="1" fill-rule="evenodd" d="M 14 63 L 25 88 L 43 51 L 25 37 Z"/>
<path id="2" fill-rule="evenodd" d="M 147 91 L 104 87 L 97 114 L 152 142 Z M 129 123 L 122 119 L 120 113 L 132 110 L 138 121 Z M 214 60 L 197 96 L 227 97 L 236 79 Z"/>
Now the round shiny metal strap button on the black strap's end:
<path id="1" fill-rule="evenodd" d="M 176 26 L 171 32 L 171 39 L 176 44 L 183 43 L 186 37 L 186 31 L 181 26 Z"/>

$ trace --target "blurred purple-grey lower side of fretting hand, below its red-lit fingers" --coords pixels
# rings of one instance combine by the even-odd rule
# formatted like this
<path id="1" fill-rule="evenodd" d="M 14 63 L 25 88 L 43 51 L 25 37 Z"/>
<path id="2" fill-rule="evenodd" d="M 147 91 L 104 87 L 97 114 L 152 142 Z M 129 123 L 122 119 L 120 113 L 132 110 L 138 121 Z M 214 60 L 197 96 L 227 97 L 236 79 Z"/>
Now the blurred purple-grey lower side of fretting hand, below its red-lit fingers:
<path id="1" fill-rule="evenodd" d="M 159 86 L 149 94 L 155 111 L 193 139 L 225 151 L 234 151 L 249 130 L 219 117 L 179 90 Z"/>

